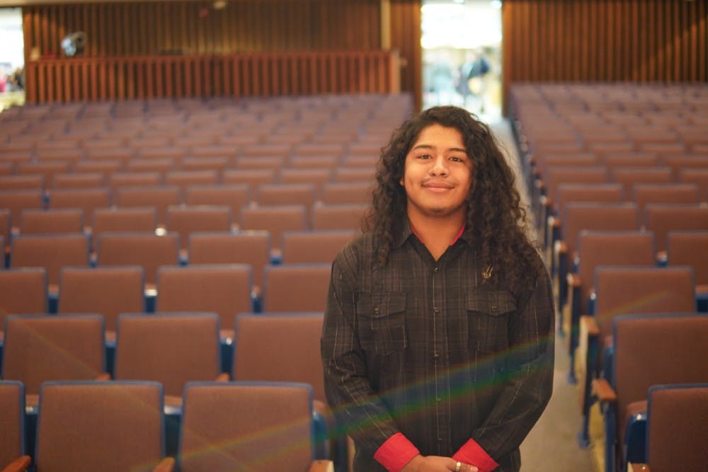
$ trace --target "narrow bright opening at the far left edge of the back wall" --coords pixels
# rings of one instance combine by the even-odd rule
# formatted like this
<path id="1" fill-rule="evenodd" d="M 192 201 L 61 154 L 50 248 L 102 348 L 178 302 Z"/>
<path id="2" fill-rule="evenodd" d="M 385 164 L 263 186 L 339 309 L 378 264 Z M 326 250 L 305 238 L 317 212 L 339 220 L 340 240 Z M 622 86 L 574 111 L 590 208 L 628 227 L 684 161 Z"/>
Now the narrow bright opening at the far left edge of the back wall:
<path id="1" fill-rule="evenodd" d="M 0 8 L 0 111 L 25 103 L 22 9 Z"/>

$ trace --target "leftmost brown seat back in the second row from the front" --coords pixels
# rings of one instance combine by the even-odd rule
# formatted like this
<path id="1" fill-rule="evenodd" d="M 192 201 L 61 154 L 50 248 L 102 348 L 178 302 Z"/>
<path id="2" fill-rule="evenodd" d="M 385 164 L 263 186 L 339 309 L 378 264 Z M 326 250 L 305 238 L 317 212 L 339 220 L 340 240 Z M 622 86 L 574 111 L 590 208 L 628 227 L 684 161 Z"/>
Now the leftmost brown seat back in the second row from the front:
<path id="1" fill-rule="evenodd" d="M 105 372 L 103 318 L 98 315 L 8 316 L 2 375 L 28 394 L 47 380 L 91 380 Z"/>

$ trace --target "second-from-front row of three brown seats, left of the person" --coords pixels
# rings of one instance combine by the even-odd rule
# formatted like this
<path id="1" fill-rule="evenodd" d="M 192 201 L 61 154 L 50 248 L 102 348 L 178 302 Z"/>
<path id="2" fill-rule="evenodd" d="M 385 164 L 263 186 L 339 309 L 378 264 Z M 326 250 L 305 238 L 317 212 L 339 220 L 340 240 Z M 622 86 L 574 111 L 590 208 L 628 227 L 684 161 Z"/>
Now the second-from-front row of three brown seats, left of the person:
<path id="1" fill-rule="evenodd" d="M 299 382 L 309 386 L 314 398 L 318 456 L 329 456 L 331 438 L 326 435 L 333 434 L 333 427 L 319 357 L 322 313 L 239 313 L 234 324 L 230 359 L 224 364 L 216 313 L 123 313 L 115 343 L 106 342 L 104 318 L 98 314 L 13 315 L 5 321 L 2 379 L 23 384 L 28 412 L 34 416 L 30 420 L 36 420 L 45 381 L 159 382 L 171 418 L 171 454 L 188 382 Z M 30 442 L 32 434 L 30 427 Z"/>

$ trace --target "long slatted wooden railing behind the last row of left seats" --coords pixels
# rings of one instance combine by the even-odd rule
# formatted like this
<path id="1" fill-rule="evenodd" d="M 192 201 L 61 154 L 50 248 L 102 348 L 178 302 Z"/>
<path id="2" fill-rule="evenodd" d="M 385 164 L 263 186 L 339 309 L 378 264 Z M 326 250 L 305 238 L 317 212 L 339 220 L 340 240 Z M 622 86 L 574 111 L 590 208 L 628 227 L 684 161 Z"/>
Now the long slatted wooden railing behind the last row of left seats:
<path id="1" fill-rule="evenodd" d="M 396 51 L 40 59 L 25 64 L 28 103 L 400 91 Z"/>

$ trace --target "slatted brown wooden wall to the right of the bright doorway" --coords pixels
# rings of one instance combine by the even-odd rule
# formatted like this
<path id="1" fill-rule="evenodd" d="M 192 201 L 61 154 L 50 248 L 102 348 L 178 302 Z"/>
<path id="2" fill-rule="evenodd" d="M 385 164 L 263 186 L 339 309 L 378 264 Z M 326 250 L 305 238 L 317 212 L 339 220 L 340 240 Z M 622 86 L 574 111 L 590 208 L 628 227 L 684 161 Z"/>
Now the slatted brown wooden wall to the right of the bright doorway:
<path id="1" fill-rule="evenodd" d="M 504 0 L 515 81 L 708 81 L 708 0 Z"/>

